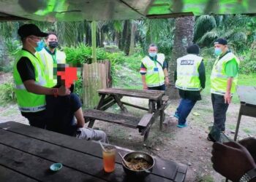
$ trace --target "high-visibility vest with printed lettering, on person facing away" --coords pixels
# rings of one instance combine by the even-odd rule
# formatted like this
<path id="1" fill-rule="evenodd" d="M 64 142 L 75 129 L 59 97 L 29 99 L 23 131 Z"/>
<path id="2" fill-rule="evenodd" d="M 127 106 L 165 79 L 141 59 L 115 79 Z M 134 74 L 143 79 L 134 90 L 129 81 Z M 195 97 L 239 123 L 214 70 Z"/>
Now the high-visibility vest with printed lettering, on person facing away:
<path id="1" fill-rule="evenodd" d="M 185 55 L 177 59 L 176 87 L 181 90 L 200 90 L 198 68 L 203 58 L 197 55 Z"/>

